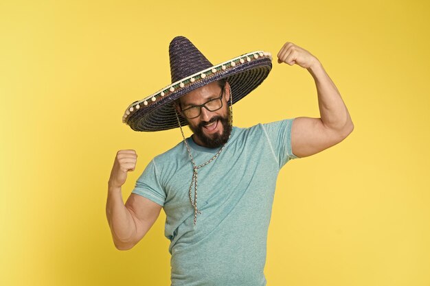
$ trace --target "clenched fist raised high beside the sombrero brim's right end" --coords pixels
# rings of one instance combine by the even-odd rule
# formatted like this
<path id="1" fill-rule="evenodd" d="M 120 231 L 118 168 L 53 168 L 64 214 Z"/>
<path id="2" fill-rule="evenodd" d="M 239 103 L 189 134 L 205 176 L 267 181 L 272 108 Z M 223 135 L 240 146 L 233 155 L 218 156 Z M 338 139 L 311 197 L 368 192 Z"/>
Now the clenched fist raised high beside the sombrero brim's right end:
<path id="1" fill-rule="evenodd" d="M 293 64 L 298 64 L 304 69 L 309 69 L 313 64 L 318 62 L 318 59 L 306 51 L 306 49 L 302 49 L 293 43 L 286 42 L 278 53 L 278 63 L 280 64 L 281 62 L 285 62 L 291 66 Z"/>

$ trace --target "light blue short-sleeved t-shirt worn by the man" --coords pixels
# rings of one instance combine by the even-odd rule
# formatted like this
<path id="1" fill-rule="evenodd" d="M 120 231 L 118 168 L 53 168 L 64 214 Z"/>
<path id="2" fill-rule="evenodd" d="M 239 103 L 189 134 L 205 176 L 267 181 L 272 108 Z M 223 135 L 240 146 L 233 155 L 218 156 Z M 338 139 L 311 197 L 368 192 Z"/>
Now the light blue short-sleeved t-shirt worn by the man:
<path id="1" fill-rule="evenodd" d="M 223 152 L 198 171 L 197 214 L 190 203 L 192 163 L 183 141 L 150 161 L 133 193 L 163 206 L 171 286 L 264 286 L 267 231 L 276 179 L 291 152 L 294 119 L 233 127 Z M 219 148 L 186 139 L 196 165 Z M 194 189 L 192 189 L 194 201 Z"/>

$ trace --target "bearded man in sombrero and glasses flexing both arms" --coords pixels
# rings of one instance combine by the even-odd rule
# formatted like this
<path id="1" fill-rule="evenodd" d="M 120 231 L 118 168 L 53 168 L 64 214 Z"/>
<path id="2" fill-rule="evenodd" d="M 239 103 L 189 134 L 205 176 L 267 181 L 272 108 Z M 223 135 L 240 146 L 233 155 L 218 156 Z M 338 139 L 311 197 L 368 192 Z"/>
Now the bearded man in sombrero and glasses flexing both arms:
<path id="1" fill-rule="evenodd" d="M 353 130 L 339 91 L 315 56 L 286 43 L 278 53 L 282 62 L 313 76 L 321 118 L 232 126 L 232 105 L 267 77 L 270 53 L 247 53 L 214 66 L 184 37 L 170 43 L 172 84 L 134 102 L 124 114 L 133 130 L 180 127 L 182 132 L 188 124 L 193 132 L 187 139 L 182 132 L 183 144 L 150 161 L 125 206 L 121 186 L 135 169 L 134 150 L 117 152 L 109 179 L 106 216 L 117 249 L 133 248 L 163 207 L 172 286 L 266 285 L 278 172 L 288 160 L 321 152 Z M 273 104 L 275 96 L 262 101 Z"/>

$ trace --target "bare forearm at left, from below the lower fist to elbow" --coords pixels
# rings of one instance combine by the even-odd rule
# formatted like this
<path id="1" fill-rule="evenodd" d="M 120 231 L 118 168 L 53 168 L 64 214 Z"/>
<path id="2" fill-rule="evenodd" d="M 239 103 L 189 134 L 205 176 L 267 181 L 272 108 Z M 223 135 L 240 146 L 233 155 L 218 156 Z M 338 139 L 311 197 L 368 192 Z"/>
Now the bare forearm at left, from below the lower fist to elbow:
<path id="1" fill-rule="evenodd" d="M 133 244 L 136 226 L 130 211 L 122 201 L 121 187 L 108 187 L 106 217 L 115 246 L 126 248 L 126 246 Z"/>

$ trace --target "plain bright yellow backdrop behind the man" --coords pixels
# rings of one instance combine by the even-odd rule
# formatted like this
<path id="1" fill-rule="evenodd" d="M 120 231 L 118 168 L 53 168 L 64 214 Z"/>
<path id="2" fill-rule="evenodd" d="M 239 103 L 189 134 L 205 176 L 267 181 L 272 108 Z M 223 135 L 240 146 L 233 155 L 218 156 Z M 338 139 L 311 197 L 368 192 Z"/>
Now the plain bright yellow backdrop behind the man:
<path id="1" fill-rule="evenodd" d="M 117 150 L 139 155 L 125 201 L 181 140 L 121 117 L 170 84 L 168 44 L 183 35 L 214 64 L 303 47 L 354 121 L 345 141 L 282 169 L 267 285 L 429 286 L 429 11 L 424 0 L 1 1 L 0 285 L 170 285 L 163 211 L 120 251 L 105 204 Z M 275 57 L 234 106 L 240 127 L 299 116 L 319 117 L 313 78 Z"/>

